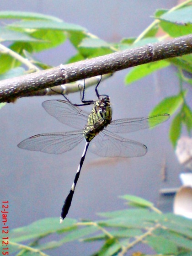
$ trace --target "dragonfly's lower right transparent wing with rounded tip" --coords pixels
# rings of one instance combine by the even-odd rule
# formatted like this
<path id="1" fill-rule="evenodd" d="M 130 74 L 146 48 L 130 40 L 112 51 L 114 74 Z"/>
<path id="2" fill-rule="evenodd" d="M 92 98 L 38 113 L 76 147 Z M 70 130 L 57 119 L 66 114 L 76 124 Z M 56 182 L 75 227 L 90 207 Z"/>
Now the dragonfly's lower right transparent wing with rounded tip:
<path id="1" fill-rule="evenodd" d="M 117 136 L 107 130 L 96 135 L 89 149 L 92 153 L 104 157 L 136 157 L 147 153 L 144 144 Z"/>

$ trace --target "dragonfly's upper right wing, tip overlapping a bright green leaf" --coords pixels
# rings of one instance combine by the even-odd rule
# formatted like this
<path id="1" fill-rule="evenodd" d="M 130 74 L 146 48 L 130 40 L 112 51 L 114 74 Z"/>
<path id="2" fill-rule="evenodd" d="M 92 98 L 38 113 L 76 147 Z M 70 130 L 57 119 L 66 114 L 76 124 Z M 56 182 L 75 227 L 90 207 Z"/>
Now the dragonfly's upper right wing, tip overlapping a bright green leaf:
<path id="1" fill-rule="evenodd" d="M 112 121 L 106 129 L 112 133 L 130 133 L 153 127 L 165 122 L 169 118 L 169 114 L 162 114 L 151 117 L 117 119 Z"/>

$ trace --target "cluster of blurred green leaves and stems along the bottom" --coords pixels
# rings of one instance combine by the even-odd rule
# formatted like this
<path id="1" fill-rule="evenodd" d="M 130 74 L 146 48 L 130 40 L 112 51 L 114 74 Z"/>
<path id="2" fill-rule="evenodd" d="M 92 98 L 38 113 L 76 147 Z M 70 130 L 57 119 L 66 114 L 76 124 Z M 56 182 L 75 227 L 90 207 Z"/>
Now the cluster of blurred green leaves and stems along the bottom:
<path id="1" fill-rule="evenodd" d="M 44 251 L 76 240 L 84 243 L 100 241 L 101 248 L 92 256 L 129 255 L 130 250 L 137 251 L 139 244 L 148 245 L 155 251 L 154 255 L 190 255 L 190 220 L 172 213 L 163 214 L 152 203 L 139 197 L 125 195 L 122 198 L 132 208 L 99 213 L 103 219 L 97 221 L 77 222 L 67 218 L 59 224 L 58 218 L 46 218 L 11 230 L 10 255 L 17 252 L 17 256 L 48 256 L 50 254 Z M 53 234 L 57 234 L 57 240 Z"/>

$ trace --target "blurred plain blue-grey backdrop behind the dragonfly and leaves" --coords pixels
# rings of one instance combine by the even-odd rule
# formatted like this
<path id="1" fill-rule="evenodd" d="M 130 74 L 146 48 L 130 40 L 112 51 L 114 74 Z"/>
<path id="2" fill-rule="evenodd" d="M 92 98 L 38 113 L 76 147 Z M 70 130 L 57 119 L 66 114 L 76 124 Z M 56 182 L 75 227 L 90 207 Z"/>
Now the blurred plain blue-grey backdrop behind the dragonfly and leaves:
<path id="1" fill-rule="evenodd" d="M 107 42 L 123 37 L 137 37 L 153 21 L 158 8 L 170 9 L 177 0 L 1 0 L 1 11 L 30 11 L 56 16 L 66 22 L 86 27 Z M 36 54 L 38 59 L 57 66 L 73 54 L 69 42 L 58 48 Z M 113 120 L 148 116 L 150 110 L 166 96 L 179 91 L 176 68 L 169 67 L 145 77 L 132 85 L 124 85 L 128 70 L 117 72 L 101 83 L 99 92 L 111 98 Z M 49 116 L 41 106 L 48 99 L 62 96 L 22 98 L 6 104 L 0 110 L 0 195 L 9 201 L 10 229 L 27 225 L 45 217 L 58 217 L 64 199 L 84 149 L 80 144 L 64 155 L 48 155 L 22 150 L 21 140 L 46 132 L 69 131 L 71 128 Z M 69 95 L 72 102 L 80 102 L 80 94 Z M 94 88 L 86 92 L 86 99 L 96 99 Z M 91 108 L 86 107 L 86 111 Z M 169 141 L 170 121 L 152 130 L 126 134 L 148 147 L 144 157 L 105 159 L 88 152 L 68 217 L 98 219 L 97 212 L 123 209 L 118 196 L 133 194 L 155 204 L 163 212 L 172 211 L 173 197 L 160 195 L 164 188 L 180 187 L 179 165 Z M 93 244 L 69 243 L 64 250 L 70 255 L 88 255 L 96 249 Z M 146 251 L 147 252 L 147 251 Z M 52 253 L 52 252 L 50 252 Z M 61 248 L 54 255 L 63 255 Z"/>

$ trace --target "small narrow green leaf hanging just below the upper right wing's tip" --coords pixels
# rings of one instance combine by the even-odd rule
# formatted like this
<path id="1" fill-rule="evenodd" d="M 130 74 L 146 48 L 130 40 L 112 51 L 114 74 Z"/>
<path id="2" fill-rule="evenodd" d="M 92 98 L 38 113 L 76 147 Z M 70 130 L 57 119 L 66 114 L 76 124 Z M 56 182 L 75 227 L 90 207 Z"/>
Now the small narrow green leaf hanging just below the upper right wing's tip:
<path id="1" fill-rule="evenodd" d="M 170 131 L 169 131 L 169 137 L 174 148 L 176 148 L 177 141 L 181 135 L 181 126 L 182 126 L 182 117 L 181 117 L 181 113 L 178 113 L 172 120 Z"/>

